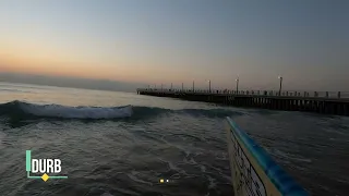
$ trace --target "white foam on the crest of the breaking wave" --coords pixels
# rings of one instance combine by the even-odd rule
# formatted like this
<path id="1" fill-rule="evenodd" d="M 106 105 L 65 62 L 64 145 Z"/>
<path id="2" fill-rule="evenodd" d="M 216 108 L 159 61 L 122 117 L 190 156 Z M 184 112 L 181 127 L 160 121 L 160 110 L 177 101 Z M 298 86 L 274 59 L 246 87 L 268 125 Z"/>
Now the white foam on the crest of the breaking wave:
<path id="1" fill-rule="evenodd" d="M 116 119 L 131 117 L 132 106 L 115 108 L 97 107 L 67 107 L 60 105 L 22 103 L 21 109 L 37 117 L 65 118 L 65 119 Z"/>

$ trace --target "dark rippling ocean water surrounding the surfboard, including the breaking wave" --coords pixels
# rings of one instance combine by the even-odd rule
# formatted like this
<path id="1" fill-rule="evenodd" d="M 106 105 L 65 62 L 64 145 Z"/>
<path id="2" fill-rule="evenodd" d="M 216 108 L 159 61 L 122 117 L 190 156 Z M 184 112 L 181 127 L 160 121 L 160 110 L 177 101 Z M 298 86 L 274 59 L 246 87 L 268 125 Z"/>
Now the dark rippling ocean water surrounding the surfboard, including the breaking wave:
<path id="1" fill-rule="evenodd" d="M 311 195 L 348 195 L 347 117 L 10 83 L 0 83 L 0 195 L 233 195 L 226 117 Z M 26 150 L 60 159 L 68 179 L 27 179 Z"/>

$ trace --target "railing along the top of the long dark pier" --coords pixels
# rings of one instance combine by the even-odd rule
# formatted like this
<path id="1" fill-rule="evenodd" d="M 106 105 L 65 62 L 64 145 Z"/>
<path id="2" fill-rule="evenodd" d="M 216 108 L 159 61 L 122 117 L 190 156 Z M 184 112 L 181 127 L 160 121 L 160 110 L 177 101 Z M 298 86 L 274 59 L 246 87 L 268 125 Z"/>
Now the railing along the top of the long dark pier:
<path id="1" fill-rule="evenodd" d="M 229 89 L 178 89 L 178 88 L 139 88 L 137 91 L 157 93 L 186 93 L 186 94 L 213 94 L 213 95 L 255 95 L 255 96 L 280 96 L 280 97 L 318 97 L 330 99 L 348 99 L 349 91 L 297 91 L 297 90 L 229 90 Z"/>

